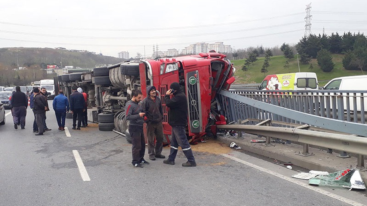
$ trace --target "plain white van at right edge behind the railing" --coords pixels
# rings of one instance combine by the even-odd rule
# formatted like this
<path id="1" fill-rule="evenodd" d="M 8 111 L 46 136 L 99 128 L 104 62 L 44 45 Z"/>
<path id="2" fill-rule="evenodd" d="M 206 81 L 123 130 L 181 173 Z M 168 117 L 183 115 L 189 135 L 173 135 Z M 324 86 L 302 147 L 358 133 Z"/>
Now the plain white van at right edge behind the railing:
<path id="1" fill-rule="evenodd" d="M 342 90 L 342 91 L 366 91 L 367 93 L 367 75 L 359 75 L 359 76 L 348 76 L 348 77 L 337 77 L 329 82 L 322 88 L 327 90 Z M 343 92 L 344 96 L 344 109 L 346 110 L 346 101 L 347 101 L 347 93 Z M 354 102 L 356 102 L 357 111 L 361 111 L 361 99 L 359 97 L 353 98 L 352 94 L 349 93 L 349 108 L 350 111 L 354 110 Z M 360 96 L 360 93 L 357 93 L 356 96 Z M 367 96 L 364 94 L 364 96 Z M 364 110 L 367 111 L 367 98 L 364 98 Z"/>

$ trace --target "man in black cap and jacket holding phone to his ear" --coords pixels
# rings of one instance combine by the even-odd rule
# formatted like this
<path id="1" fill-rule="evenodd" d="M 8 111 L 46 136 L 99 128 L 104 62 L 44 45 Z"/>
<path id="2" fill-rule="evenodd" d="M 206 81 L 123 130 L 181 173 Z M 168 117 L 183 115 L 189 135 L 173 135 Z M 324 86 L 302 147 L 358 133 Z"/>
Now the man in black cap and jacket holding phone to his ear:
<path id="1" fill-rule="evenodd" d="M 172 94 L 174 94 L 174 97 L 170 99 Z M 182 166 L 195 167 L 195 158 L 186 137 L 186 125 L 188 121 L 187 99 L 177 82 L 173 82 L 170 85 L 170 89 L 166 92 L 166 95 L 164 95 L 164 102 L 166 102 L 166 106 L 169 108 L 168 124 L 172 126 L 172 136 L 171 152 L 168 159 L 164 160 L 163 163 L 174 165 L 178 146 L 181 146 L 183 154 L 185 154 L 188 159 L 187 162 L 182 163 Z"/>

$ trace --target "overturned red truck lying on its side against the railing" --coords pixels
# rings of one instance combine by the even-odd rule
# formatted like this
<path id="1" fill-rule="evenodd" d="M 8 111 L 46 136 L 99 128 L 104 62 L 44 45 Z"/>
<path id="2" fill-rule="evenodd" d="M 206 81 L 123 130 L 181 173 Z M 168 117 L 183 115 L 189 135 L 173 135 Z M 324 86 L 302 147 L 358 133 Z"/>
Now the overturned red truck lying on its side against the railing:
<path id="1" fill-rule="evenodd" d="M 188 99 L 188 136 L 193 141 L 200 139 L 208 126 L 214 124 L 217 109 L 216 97 L 221 89 L 229 89 L 234 81 L 233 68 L 226 55 L 217 52 L 199 55 L 161 58 L 156 60 L 133 60 L 109 67 L 94 68 L 92 73 L 66 74 L 61 78 L 67 95 L 70 87 L 77 85 L 89 93 L 91 106 L 98 108 L 100 130 L 112 130 L 120 135 L 128 133 L 124 104 L 131 93 L 139 89 L 146 97 L 146 87 L 157 88 L 163 106 L 164 143 L 169 143 L 171 126 L 168 125 L 168 108 L 163 96 L 172 82 L 178 82 Z M 77 80 L 76 80 L 77 79 Z M 92 82 L 87 83 L 87 82 Z M 95 108 L 95 107 L 94 107 Z M 89 118 L 89 117 L 88 117 Z"/>

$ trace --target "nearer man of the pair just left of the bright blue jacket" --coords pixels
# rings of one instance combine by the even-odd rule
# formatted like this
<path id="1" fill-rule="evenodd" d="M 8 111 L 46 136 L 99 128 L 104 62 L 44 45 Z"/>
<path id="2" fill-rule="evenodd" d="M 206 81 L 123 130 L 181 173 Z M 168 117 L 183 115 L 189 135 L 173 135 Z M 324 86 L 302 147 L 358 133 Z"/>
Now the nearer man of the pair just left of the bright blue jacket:
<path id="1" fill-rule="evenodd" d="M 46 116 L 47 100 L 43 95 L 40 94 L 38 88 L 33 89 L 34 100 L 33 100 L 33 112 L 36 114 L 36 122 L 38 126 L 38 133 L 36 135 L 43 135 L 44 132 L 44 117 Z"/>

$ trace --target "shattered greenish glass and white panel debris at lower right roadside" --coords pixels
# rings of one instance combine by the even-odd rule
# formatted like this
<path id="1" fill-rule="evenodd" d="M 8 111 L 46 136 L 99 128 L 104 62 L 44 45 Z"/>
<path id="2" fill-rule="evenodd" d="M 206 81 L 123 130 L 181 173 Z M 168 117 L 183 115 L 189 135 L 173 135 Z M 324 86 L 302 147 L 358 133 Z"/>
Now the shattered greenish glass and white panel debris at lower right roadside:
<path id="1" fill-rule="evenodd" d="M 366 190 L 366 185 L 356 169 L 346 169 L 328 175 L 319 175 L 309 180 L 308 184 L 344 187 Z"/>

